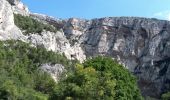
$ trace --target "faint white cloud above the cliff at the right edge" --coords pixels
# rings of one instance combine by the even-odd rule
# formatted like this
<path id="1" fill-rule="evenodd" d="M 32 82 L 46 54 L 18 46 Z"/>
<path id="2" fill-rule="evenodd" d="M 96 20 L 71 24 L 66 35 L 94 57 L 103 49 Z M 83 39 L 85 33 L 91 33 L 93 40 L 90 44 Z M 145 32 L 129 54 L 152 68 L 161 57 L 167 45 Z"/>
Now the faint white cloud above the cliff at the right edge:
<path id="1" fill-rule="evenodd" d="M 165 19 L 165 20 L 170 21 L 170 10 L 157 12 L 157 13 L 153 14 L 153 17 L 160 18 L 160 19 Z"/>

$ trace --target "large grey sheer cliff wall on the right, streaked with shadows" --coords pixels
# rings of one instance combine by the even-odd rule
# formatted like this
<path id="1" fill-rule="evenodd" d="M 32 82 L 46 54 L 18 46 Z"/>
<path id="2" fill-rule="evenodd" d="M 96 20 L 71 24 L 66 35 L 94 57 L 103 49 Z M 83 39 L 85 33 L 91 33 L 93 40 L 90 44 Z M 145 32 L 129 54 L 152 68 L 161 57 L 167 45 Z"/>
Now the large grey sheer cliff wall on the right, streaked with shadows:
<path id="1" fill-rule="evenodd" d="M 139 78 L 144 96 L 159 97 L 170 90 L 170 22 L 113 17 L 69 19 L 63 27 L 69 41 L 87 57 L 111 56 Z"/>

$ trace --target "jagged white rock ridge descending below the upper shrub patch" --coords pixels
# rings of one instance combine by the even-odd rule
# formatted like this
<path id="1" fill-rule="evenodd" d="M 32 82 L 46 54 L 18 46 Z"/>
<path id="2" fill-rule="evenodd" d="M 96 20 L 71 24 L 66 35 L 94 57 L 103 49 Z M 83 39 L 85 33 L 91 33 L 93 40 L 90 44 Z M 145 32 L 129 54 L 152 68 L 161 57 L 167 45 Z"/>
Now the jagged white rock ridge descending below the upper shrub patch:
<path id="1" fill-rule="evenodd" d="M 44 31 L 41 34 L 26 35 L 26 42 L 34 46 L 43 45 L 47 50 L 64 53 L 68 59 L 78 59 L 83 62 L 86 59 L 80 44 L 72 46 L 62 31 L 56 33 Z"/>

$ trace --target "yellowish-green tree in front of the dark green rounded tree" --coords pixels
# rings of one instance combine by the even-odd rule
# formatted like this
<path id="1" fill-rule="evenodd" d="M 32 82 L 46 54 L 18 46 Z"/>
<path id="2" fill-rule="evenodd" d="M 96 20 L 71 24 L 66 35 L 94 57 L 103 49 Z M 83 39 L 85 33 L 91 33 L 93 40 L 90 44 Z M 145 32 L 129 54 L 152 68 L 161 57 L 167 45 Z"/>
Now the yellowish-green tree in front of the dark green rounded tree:
<path id="1" fill-rule="evenodd" d="M 101 77 L 94 68 L 77 64 L 74 73 L 68 73 L 67 78 L 59 83 L 51 99 L 113 99 L 115 86 L 115 80 L 110 79 L 109 74 Z"/>

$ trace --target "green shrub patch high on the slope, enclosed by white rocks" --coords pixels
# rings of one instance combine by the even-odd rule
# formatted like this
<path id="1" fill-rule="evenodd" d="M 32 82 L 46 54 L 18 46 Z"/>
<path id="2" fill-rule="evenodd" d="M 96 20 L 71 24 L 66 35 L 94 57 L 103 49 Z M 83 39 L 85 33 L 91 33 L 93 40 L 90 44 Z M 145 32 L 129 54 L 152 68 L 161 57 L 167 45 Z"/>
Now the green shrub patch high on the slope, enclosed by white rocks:
<path id="1" fill-rule="evenodd" d="M 57 31 L 53 26 L 39 22 L 29 16 L 14 14 L 14 22 L 15 25 L 25 31 L 25 34 L 41 33 L 43 30 L 51 32 Z"/>

